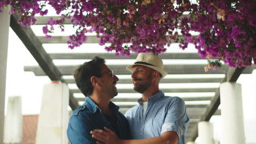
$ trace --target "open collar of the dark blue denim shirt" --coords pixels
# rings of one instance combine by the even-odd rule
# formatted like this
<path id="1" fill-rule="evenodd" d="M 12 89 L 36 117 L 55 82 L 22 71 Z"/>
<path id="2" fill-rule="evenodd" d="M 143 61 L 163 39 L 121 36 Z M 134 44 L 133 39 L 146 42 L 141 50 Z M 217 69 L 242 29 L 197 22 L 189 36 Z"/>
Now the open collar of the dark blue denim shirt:
<path id="1" fill-rule="evenodd" d="M 91 113 L 95 113 L 97 109 L 101 111 L 101 109 L 95 104 L 95 102 L 89 96 L 85 97 L 85 102 L 83 105 L 86 106 Z M 119 110 L 119 106 L 115 105 L 112 101 L 109 101 L 108 106 L 115 113 Z"/>

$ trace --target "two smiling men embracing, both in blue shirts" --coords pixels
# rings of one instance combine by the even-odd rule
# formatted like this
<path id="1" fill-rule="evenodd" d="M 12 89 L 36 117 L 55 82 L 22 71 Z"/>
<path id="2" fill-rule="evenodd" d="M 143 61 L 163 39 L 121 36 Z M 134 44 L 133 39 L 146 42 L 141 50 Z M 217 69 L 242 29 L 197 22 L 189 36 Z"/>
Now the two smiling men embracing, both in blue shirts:
<path id="1" fill-rule="evenodd" d="M 165 96 L 159 82 L 167 73 L 162 60 L 151 53 L 139 53 L 131 71 L 133 89 L 142 94 L 138 105 L 125 116 L 110 101 L 118 92 L 119 80 L 103 58 L 95 57 L 75 70 L 74 79 L 85 102 L 74 110 L 67 136 L 72 144 L 160 144 L 185 143 L 189 118 L 184 101 Z"/>

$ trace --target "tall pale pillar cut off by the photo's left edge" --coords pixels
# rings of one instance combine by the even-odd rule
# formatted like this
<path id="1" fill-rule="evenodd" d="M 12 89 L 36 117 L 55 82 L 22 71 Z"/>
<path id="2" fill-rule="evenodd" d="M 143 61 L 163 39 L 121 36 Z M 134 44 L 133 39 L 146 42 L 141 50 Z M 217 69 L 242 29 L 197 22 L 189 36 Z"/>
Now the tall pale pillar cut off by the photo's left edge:
<path id="1" fill-rule="evenodd" d="M 0 144 L 3 143 L 4 131 L 4 103 L 5 103 L 5 83 L 7 68 L 7 50 L 10 26 L 10 7 L 2 8 L 0 13 Z"/>

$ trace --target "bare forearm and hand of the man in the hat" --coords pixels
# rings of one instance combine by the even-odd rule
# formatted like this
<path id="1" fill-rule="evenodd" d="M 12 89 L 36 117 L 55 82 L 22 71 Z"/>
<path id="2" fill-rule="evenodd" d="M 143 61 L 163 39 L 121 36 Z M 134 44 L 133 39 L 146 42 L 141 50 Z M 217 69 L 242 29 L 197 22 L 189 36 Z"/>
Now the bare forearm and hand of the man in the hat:
<path id="1" fill-rule="evenodd" d="M 178 135 L 174 131 L 166 131 L 162 133 L 161 136 L 153 137 L 149 139 L 142 140 L 119 140 L 117 135 L 108 128 L 104 130 L 95 129 L 91 131 L 92 137 L 94 139 L 104 142 L 105 144 L 175 144 L 178 142 Z M 101 142 L 97 142 L 101 143 Z"/>

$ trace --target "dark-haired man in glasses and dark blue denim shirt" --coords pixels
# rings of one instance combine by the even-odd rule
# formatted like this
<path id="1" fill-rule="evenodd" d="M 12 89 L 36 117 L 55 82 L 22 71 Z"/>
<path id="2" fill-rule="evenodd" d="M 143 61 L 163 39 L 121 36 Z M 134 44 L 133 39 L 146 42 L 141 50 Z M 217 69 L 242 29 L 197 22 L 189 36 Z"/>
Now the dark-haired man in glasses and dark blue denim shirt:
<path id="1" fill-rule="evenodd" d="M 107 127 L 119 139 L 130 139 L 129 123 L 119 107 L 110 101 L 118 92 L 119 80 L 103 58 L 95 57 L 74 72 L 75 83 L 85 95 L 85 102 L 75 109 L 69 120 L 67 136 L 72 144 L 96 143 L 90 131 Z"/>

